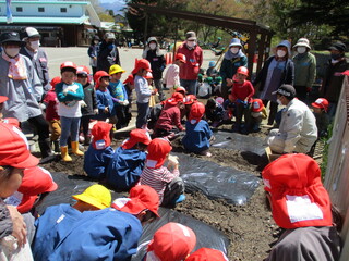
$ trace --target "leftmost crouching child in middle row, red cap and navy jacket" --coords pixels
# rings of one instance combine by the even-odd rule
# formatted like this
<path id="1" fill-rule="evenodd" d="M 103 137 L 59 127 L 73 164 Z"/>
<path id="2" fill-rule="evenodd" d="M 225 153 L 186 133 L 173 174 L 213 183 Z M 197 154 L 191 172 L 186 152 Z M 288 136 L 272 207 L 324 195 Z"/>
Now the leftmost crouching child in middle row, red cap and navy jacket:
<path id="1" fill-rule="evenodd" d="M 89 177 L 101 179 L 106 176 L 106 169 L 113 154 L 110 147 L 111 128 L 112 125 L 106 122 L 97 122 L 92 128 L 93 140 L 84 157 L 84 171 Z"/>

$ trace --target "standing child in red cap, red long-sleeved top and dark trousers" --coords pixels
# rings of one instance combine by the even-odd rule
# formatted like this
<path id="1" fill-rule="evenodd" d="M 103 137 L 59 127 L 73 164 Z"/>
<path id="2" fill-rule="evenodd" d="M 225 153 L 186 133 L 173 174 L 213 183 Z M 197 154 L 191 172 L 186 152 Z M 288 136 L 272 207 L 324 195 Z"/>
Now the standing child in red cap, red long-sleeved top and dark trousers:
<path id="1" fill-rule="evenodd" d="M 254 95 L 254 88 L 250 80 L 246 80 L 249 76 L 249 70 L 244 66 L 240 66 L 237 70 L 237 74 L 233 79 L 230 80 L 232 85 L 231 95 L 232 100 L 236 102 L 236 123 L 232 132 L 248 133 L 248 126 L 250 121 L 250 103 Z M 245 127 L 241 129 L 242 115 L 244 115 Z"/>

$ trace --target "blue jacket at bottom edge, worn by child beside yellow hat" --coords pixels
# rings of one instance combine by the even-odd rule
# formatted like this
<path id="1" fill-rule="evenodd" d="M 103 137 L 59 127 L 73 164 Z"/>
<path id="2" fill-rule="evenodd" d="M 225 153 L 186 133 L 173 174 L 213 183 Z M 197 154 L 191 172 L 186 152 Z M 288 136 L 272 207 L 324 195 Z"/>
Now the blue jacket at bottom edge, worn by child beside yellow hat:
<path id="1" fill-rule="evenodd" d="M 141 234 L 141 222 L 132 214 L 113 208 L 85 211 L 48 260 L 131 260 Z"/>

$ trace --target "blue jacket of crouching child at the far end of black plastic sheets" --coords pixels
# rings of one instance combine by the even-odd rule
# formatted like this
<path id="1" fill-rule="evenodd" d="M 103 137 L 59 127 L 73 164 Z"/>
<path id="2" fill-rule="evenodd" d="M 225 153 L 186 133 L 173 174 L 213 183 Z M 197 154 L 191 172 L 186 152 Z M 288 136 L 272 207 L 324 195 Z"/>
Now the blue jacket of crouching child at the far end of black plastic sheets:
<path id="1" fill-rule="evenodd" d="M 213 133 L 206 121 L 201 120 L 196 124 L 191 124 L 190 121 L 186 121 L 185 130 L 186 134 L 182 139 L 182 144 L 186 150 L 200 153 L 209 148 L 209 138 Z"/>

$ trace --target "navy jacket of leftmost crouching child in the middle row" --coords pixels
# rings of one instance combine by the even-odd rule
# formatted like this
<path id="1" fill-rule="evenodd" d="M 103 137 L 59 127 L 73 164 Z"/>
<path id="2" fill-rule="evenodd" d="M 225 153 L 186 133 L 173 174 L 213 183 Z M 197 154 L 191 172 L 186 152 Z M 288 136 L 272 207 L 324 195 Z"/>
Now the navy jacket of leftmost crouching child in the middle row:
<path id="1" fill-rule="evenodd" d="M 106 167 L 108 166 L 113 151 L 110 146 L 97 150 L 93 145 L 89 145 L 84 157 L 84 171 L 87 173 L 87 176 L 98 179 L 105 177 Z"/>

